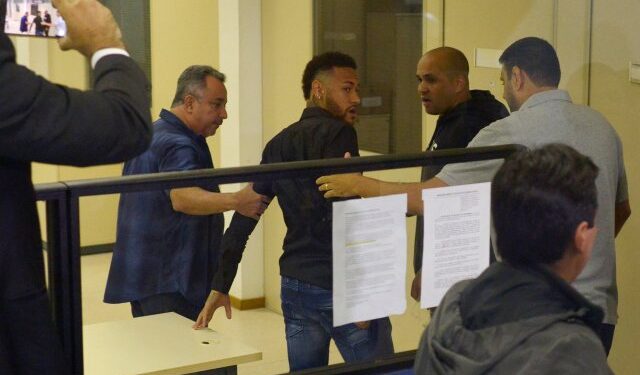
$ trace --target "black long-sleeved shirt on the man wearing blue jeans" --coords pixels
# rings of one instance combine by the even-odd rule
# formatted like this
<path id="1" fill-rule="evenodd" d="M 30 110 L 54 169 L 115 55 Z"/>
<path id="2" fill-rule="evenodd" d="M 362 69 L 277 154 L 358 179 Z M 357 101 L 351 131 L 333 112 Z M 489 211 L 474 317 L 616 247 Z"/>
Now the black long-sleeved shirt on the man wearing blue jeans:
<path id="1" fill-rule="evenodd" d="M 276 135 L 262 153 L 262 164 L 358 156 L 353 126 L 314 107 Z M 319 176 L 318 176 L 319 177 Z M 280 274 L 325 289 L 332 288 L 332 201 L 318 191 L 316 177 L 256 183 L 254 190 L 277 197 L 287 224 Z M 235 214 L 222 241 L 222 263 L 212 289 L 228 293 L 242 251 L 256 221 Z"/>

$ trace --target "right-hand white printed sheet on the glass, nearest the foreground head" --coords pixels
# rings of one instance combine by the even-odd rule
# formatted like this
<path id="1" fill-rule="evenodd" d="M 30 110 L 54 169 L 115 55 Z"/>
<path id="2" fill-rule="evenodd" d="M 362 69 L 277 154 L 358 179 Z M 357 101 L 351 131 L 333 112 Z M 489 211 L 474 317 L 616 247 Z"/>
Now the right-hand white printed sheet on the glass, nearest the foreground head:
<path id="1" fill-rule="evenodd" d="M 491 183 L 425 189 L 420 306 L 438 306 L 449 288 L 489 266 Z"/>

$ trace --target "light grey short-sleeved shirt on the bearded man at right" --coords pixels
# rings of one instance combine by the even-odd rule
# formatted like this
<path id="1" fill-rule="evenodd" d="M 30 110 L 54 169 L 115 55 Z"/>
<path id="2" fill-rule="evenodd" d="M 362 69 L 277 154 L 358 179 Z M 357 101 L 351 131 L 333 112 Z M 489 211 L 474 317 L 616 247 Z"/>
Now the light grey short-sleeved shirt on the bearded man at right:
<path id="1" fill-rule="evenodd" d="M 521 144 L 529 148 L 567 144 L 589 156 L 600 169 L 596 179 L 598 236 L 591 259 L 574 282 L 576 289 L 605 312 L 604 322 L 617 320 L 615 269 L 615 205 L 629 199 L 622 144 L 615 129 L 593 109 L 573 104 L 564 90 L 532 95 L 511 116 L 482 129 L 468 147 Z M 487 182 L 502 160 L 449 164 L 438 178 L 449 185 Z"/>

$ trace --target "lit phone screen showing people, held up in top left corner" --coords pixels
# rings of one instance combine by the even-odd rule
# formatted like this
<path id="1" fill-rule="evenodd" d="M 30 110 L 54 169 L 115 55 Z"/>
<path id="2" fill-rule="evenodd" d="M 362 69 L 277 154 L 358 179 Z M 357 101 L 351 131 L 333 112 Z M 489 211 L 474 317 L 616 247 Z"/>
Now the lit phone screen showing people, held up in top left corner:
<path id="1" fill-rule="evenodd" d="M 1 0 L 7 2 L 4 31 L 12 35 L 62 38 L 67 26 L 51 0 Z"/>

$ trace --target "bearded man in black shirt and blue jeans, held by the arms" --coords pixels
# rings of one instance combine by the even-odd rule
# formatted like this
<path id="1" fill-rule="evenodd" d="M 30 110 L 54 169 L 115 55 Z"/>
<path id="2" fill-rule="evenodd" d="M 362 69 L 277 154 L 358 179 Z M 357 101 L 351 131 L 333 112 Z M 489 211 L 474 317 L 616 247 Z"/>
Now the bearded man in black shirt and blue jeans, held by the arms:
<path id="1" fill-rule="evenodd" d="M 302 91 L 307 108 L 300 120 L 282 130 L 264 148 L 262 163 L 358 156 L 353 124 L 360 104 L 356 63 L 327 52 L 305 67 Z M 333 327 L 332 208 L 313 178 L 255 183 L 254 189 L 278 197 L 287 234 L 280 257 L 282 311 L 290 371 L 326 366 L 334 339 L 346 362 L 393 354 L 389 318 Z M 229 289 L 249 235 L 257 221 L 234 215 L 223 239 L 222 263 L 205 308 L 194 328 L 204 328 L 224 306 L 231 319 Z"/>

